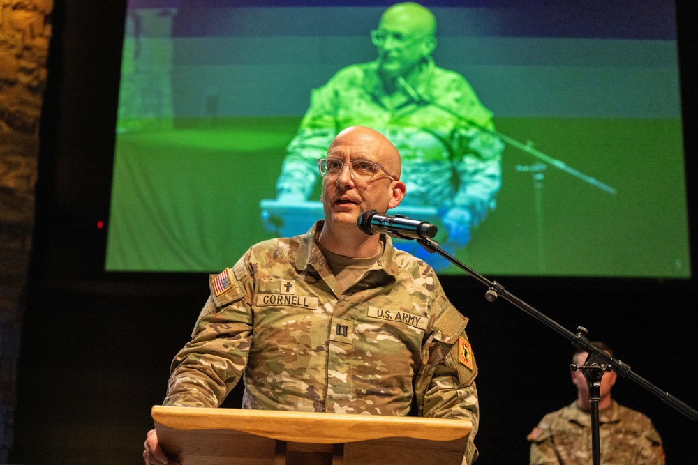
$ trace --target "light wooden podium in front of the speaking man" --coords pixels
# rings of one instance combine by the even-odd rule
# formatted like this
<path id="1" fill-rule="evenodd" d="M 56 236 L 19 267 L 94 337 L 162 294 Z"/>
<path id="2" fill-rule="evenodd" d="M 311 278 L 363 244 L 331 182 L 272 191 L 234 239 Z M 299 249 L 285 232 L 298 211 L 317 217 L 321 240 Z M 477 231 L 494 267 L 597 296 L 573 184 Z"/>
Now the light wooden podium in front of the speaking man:
<path id="1" fill-rule="evenodd" d="M 460 465 L 467 420 L 154 406 L 182 465 Z"/>

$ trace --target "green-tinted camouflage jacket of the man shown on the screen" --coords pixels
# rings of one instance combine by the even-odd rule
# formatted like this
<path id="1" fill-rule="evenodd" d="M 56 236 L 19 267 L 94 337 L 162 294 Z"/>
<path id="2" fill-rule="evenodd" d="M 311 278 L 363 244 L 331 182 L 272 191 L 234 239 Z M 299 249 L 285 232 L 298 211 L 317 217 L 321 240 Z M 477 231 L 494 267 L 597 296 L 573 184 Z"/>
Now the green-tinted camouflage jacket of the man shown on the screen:
<path id="1" fill-rule="evenodd" d="M 318 178 L 315 160 L 327 155 L 339 131 L 364 125 L 383 133 L 402 156 L 403 206 L 459 206 L 483 218 L 501 185 L 503 143 L 487 132 L 492 113 L 466 79 L 431 59 L 408 85 L 410 91 L 387 96 L 373 61 L 343 68 L 313 90 L 286 149 L 278 196 L 308 199 Z"/>

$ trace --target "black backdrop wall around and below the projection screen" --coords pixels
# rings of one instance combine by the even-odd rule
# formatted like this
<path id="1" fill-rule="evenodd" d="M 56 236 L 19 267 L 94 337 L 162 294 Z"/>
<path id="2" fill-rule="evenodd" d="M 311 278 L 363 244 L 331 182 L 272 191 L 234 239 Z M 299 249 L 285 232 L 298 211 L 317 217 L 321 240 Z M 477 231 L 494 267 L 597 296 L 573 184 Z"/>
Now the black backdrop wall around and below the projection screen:
<path id="1" fill-rule="evenodd" d="M 108 213 L 124 8 L 123 0 L 54 8 L 13 463 L 141 463 L 149 409 L 162 401 L 172 356 L 207 297 L 205 275 L 102 271 L 106 233 L 96 221 Z M 683 3 L 678 8 L 695 239 L 695 51 L 685 38 L 692 17 Z M 564 328 L 586 326 L 634 372 L 698 407 L 695 280 L 496 279 Z M 526 434 L 574 398 L 572 348 L 510 303 L 487 303 L 470 277 L 444 285 L 470 317 L 480 366 L 477 463 L 526 463 Z M 696 421 L 632 381 L 621 379 L 614 394 L 653 419 L 669 464 L 695 463 Z M 226 405 L 236 402 L 238 391 Z"/>

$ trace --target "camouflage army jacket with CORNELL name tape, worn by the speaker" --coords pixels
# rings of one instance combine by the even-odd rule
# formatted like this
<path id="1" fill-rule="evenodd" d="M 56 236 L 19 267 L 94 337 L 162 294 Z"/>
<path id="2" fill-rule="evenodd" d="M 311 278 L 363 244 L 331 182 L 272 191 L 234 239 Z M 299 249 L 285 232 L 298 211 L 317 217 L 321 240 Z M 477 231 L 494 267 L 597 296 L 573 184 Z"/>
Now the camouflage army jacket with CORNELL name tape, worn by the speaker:
<path id="1" fill-rule="evenodd" d="M 192 340 L 172 362 L 165 405 L 215 407 L 244 374 L 243 407 L 464 418 L 466 457 L 477 451 L 477 365 L 468 319 L 431 267 L 385 247 L 336 295 L 315 235 L 251 247 L 212 275 Z"/>

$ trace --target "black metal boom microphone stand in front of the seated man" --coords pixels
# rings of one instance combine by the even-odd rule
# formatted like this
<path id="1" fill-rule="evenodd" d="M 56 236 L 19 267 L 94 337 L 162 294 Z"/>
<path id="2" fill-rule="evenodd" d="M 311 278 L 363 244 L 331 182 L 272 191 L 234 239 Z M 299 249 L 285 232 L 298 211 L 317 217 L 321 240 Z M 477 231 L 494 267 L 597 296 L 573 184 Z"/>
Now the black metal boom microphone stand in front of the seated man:
<path id="1" fill-rule="evenodd" d="M 542 314 L 534 307 L 528 305 L 528 303 L 524 302 L 517 296 L 514 296 L 514 294 L 511 294 L 504 288 L 502 284 L 496 281 L 488 280 L 486 277 L 480 275 L 480 273 L 477 273 L 472 268 L 469 268 L 465 264 L 461 263 L 461 261 L 453 257 L 451 254 L 448 254 L 447 252 L 441 250 L 441 248 L 438 245 L 438 242 L 434 241 L 433 239 L 419 238 L 417 239 L 417 242 L 419 243 L 419 245 L 422 245 L 422 247 L 424 247 L 426 251 L 430 254 L 436 252 L 441 257 L 444 257 L 452 264 L 454 264 L 458 268 L 461 268 L 461 270 L 465 271 L 466 273 L 474 277 L 476 280 L 484 284 L 487 287 L 487 291 L 484 294 L 484 298 L 488 302 L 494 302 L 495 300 L 497 300 L 498 297 L 507 300 L 507 302 L 516 305 L 521 310 L 528 313 L 531 317 L 537 319 L 545 326 L 548 326 L 552 330 L 556 331 L 556 333 L 559 333 L 560 335 L 567 337 L 567 339 L 570 340 L 572 344 L 576 346 L 578 349 L 581 349 L 582 351 L 586 351 L 589 353 L 589 356 L 586 359 L 586 362 L 584 363 L 584 367 L 577 367 L 576 365 L 573 365 L 574 368 L 570 368 L 583 369 L 584 377 L 586 378 L 587 384 L 589 386 L 589 400 L 592 406 L 591 440 L 593 452 L 593 465 L 601 464 L 599 439 L 599 387 L 601 385 L 601 378 L 604 372 L 614 370 L 616 373 L 618 373 L 618 375 L 623 376 L 624 378 L 627 377 L 629 379 L 632 379 L 632 381 L 634 381 L 635 383 L 638 383 L 646 390 L 652 392 L 654 395 L 658 396 L 664 402 L 669 404 L 669 406 L 676 409 L 676 411 L 683 413 L 684 416 L 690 418 L 691 420 L 698 419 L 698 411 L 693 409 L 691 406 L 685 404 L 684 402 L 681 402 L 681 400 L 669 394 L 669 392 L 661 390 L 660 388 L 653 385 L 643 377 L 632 372 L 630 369 L 630 365 L 623 363 L 621 360 L 613 358 L 609 356 L 609 354 L 598 349 L 597 346 L 595 346 L 588 340 L 588 330 L 586 330 L 586 328 L 579 326 L 577 328 L 577 333 L 572 333 L 572 331 L 565 329 L 563 326 L 561 326 L 553 319 Z"/>

